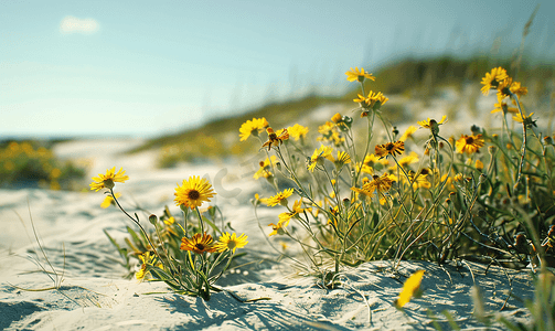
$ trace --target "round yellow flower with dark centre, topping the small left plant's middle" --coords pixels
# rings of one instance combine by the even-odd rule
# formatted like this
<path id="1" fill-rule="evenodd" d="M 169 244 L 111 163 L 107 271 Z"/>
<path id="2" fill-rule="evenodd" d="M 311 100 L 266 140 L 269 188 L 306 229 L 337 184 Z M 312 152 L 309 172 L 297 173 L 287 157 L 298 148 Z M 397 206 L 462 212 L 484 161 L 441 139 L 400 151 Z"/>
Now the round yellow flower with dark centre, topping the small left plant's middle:
<path id="1" fill-rule="evenodd" d="M 202 205 L 204 201 L 210 202 L 216 193 L 212 191 L 212 185 L 206 179 L 198 175 L 183 180 L 183 184 L 175 188 L 175 204 L 185 207 L 195 209 Z"/>

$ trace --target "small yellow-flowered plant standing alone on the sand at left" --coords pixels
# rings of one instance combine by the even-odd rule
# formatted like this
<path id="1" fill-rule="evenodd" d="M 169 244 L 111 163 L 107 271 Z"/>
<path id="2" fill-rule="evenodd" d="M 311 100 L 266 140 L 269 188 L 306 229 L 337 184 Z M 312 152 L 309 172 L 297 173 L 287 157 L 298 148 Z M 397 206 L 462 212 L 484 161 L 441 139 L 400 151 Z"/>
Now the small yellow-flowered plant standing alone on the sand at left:
<path id="1" fill-rule="evenodd" d="M 135 271 L 139 280 L 163 281 L 174 292 L 201 297 L 209 300 L 214 291 L 221 291 L 215 282 L 230 267 L 235 250 L 244 247 L 247 236 L 224 232 L 223 215 L 217 206 L 200 207 L 216 194 L 211 183 L 200 177 L 183 180 L 175 189 L 175 203 L 182 211 L 181 217 L 173 216 L 166 207 L 160 216 L 148 217 L 153 232 L 148 232 L 140 223 L 137 213 L 129 214 L 119 203 L 114 191 L 116 182 L 129 179 L 126 171 L 108 169 L 106 174 L 93 178 L 90 189 L 106 190 L 105 194 L 135 225 L 137 233 L 128 226 L 127 247 L 118 244 L 107 232 L 106 235 L 116 246 L 130 275 L 135 271 L 136 260 L 140 267 Z M 221 225 L 220 225 L 221 224 Z M 214 237 L 220 236 L 217 242 Z"/>

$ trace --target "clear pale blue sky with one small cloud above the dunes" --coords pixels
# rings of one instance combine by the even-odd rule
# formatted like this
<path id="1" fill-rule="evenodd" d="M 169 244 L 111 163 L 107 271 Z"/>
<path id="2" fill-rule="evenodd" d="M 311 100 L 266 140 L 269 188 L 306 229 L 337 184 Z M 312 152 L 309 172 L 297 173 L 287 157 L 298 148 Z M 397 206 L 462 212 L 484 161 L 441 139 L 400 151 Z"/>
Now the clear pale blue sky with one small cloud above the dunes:
<path id="1" fill-rule="evenodd" d="M 158 1 L 157 1 L 158 2 Z M 493 41 L 555 58 L 555 1 L 0 1 L 0 138 L 151 137 Z"/>

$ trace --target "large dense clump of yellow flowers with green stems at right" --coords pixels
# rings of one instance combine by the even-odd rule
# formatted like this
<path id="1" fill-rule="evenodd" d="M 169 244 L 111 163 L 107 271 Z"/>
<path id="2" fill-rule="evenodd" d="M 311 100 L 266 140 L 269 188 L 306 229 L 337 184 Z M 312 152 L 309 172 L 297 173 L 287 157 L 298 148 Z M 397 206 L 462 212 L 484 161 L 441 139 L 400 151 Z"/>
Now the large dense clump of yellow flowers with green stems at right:
<path id="1" fill-rule="evenodd" d="M 345 74 L 361 87 L 356 116 L 335 114 L 318 128 L 316 147 L 299 124 L 274 130 L 265 118 L 253 118 L 239 128 L 242 141 L 259 139 L 266 159 L 254 178 L 275 192 L 257 194 L 255 212 L 264 204 L 284 209 L 268 225 L 269 236 L 297 242 L 308 263 L 289 258 L 327 285 L 342 265 L 378 259 L 395 266 L 460 258 L 515 268 L 554 265 L 553 138 L 536 132 L 533 113 L 523 110 L 527 89 L 521 83 L 501 67 L 482 79 L 484 95 L 498 94 L 497 132 L 472 126 L 460 138 L 447 137 L 444 116 L 418 121 L 429 132 L 423 141 L 415 126 L 401 135 L 387 120 L 382 106 L 388 98 L 365 86 L 376 79 L 372 74 L 357 67 Z"/>

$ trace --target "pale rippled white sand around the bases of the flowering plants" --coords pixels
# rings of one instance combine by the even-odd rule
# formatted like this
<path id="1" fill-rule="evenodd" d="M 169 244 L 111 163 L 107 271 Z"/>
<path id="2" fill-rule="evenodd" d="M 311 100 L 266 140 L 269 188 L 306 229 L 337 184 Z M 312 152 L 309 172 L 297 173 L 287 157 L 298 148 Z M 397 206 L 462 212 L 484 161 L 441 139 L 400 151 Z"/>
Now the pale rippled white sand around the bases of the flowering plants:
<path id="1" fill-rule="evenodd" d="M 245 232 L 249 244 L 241 261 L 255 261 L 222 278 L 225 291 L 210 301 L 170 293 L 164 284 L 126 280 L 118 254 L 103 229 L 122 242 L 125 226 L 132 223 L 115 207 L 99 207 L 100 192 L 52 192 L 46 190 L 0 190 L 0 329 L 7 330 L 428 330 L 428 310 L 444 329 L 449 329 L 441 311 L 449 311 L 462 329 L 484 328 L 472 317 L 470 288 L 479 285 L 489 311 L 499 311 L 506 290 L 531 298 L 526 273 L 501 271 L 468 264 L 460 268 L 430 263 L 402 263 L 398 274 L 392 263 L 369 263 L 345 269 L 343 285 L 329 290 L 313 278 L 289 277 L 293 269 L 276 263 L 276 253 L 266 244 L 248 203 L 260 183 L 252 179 L 257 158 L 239 166 L 198 164 L 169 170 L 154 169 L 152 152 L 127 157 L 118 152 L 138 141 L 76 141 L 63 143 L 56 152 L 66 157 L 90 158 L 92 173 L 113 166 L 124 167 L 130 180 L 117 183 L 121 202 L 132 210 L 139 204 L 148 213 L 160 214 L 163 205 L 178 213 L 173 190 L 189 175 L 207 175 L 218 192 L 215 202 L 237 233 Z M 227 170 L 227 173 L 225 172 Z M 218 174 L 218 175 L 217 175 Z M 29 258 L 36 248 L 28 239 L 17 213 L 31 232 L 29 210 L 45 253 L 56 270 L 64 270 L 62 287 Z M 140 213 L 148 227 L 148 213 Z M 263 224 L 277 220 L 279 211 L 262 209 Z M 267 227 L 267 226 L 264 226 Z M 269 228 L 265 228 L 266 234 Z M 275 239 L 276 237 L 273 237 Z M 275 241 L 276 242 L 276 241 Z M 65 248 L 65 268 L 64 268 Z M 41 259 L 43 260 L 43 259 Z M 43 260 L 44 263 L 44 260 Z M 469 271 L 469 267 L 473 271 Z M 399 311 L 393 306 L 402 284 L 413 271 L 425 269 L 424 296 Z M 149 295 L 149 292 L 164 292 Z M 232 295 L 233 293 L 233 295 Z M 366 306 L 363 297 L 367 300 Z M 237 298 L 250 300 L 241 302 Z M 529 312 L 509 298 L 503 313 L 513 320 L 527 320 Z M 502 330 L 503 328 L 493 328 Z"/>

